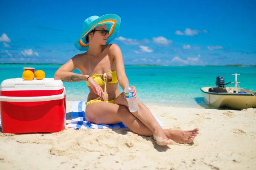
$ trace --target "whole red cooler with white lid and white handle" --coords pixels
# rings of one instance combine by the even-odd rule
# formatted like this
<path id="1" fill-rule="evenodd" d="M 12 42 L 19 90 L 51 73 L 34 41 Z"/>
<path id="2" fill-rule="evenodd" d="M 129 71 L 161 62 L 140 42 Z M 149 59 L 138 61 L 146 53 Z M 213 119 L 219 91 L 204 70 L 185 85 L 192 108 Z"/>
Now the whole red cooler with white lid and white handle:
<path id="1" fill-rule="evenodd" d="M 6 79 L 0 88 L 3 133 L 59 132 L 65 129 L 66 91 L 61 80 Z"/>

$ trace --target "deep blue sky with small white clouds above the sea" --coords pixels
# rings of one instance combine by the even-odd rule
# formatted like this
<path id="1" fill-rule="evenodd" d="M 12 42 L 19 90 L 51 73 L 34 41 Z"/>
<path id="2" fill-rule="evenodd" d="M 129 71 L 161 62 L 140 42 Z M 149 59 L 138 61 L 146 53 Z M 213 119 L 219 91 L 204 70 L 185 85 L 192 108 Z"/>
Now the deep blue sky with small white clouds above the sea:
<path id="1" fill-rule="evenodd" d="M 125 65 L 256 65 L 255 0 L 1 0 L 0 63 L 65 63 L 87 17 L 117 14 Z"/>

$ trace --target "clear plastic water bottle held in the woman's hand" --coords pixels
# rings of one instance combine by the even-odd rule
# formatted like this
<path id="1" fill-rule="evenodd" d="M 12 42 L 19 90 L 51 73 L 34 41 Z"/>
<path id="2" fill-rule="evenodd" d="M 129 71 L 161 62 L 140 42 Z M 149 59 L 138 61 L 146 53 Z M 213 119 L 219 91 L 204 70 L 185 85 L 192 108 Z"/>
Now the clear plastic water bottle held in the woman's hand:
<path id="1" fill-rule="evenodd" d="M 129 111 L 132 113 L 138 111 L 139 106 L 135 99 L 135 96 L 133 96 L 132 88 L 129 84 L 125 85 L 124 92 L 125 92 L 126 100 L 128 102 Z"/>

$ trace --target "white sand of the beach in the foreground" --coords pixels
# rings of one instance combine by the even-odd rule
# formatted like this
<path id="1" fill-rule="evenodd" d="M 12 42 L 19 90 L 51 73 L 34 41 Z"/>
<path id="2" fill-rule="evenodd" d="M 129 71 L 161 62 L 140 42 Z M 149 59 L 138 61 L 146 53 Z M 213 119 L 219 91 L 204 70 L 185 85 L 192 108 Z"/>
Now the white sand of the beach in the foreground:
<path id="1" fill-rule="evenodd" d="M 194 144 L 158 146 L 127 128 L 0 133 L 0 170 L 256 169 L 256 109 L 148 108 L 165 128 L 199 127 Z"/>

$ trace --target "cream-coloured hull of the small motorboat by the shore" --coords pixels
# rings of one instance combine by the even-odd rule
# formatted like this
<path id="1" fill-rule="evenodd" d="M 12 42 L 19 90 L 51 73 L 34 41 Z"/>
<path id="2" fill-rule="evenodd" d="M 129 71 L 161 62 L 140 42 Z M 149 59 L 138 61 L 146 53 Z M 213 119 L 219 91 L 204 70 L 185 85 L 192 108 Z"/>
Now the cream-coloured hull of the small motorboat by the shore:
<path id="1" fill-rule="evenodd" d="M 250 91 L 250 93 L 246 94 L 214 93 L 209 92 L 209 88 L 212 87 L 201 88 L 204 102 L 209 106 L 214 108 L 231 108 L 236 110 L 256 108 L 256 96 L 254 95 L 254 91 Z"/>

